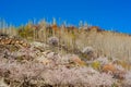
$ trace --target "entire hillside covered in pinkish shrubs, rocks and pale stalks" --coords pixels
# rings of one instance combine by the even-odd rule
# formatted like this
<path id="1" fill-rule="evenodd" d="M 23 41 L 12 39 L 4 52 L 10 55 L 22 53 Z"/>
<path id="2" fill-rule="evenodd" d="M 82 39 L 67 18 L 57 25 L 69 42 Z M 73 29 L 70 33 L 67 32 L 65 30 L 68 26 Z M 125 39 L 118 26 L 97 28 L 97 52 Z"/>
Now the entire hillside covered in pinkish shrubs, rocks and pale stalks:
<path id="1" fill-rule="evenodd" d="M 2 27 L 0 86 L 130 87 L 130 35 L 98 26 Z"/>

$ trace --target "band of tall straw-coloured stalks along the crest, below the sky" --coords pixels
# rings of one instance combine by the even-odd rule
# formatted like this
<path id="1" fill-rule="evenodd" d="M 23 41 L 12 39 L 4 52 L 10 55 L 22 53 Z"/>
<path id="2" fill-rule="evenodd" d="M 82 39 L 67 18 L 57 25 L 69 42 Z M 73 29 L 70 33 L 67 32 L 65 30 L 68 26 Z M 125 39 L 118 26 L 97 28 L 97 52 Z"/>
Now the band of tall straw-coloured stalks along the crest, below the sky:
<path id="1" fill-rule="evenodd" d="M 84 30 L 83 28 L 78 29 L 76 27 L 66 26 L 59 27 L 57 25 L 49 25 L 44 21 L 39 22 L 38 25 L 28 23 L 26 26 L 20 27 L 20 32 L 14 27 L 3 27 L 1 32 L 44 42 L 47 42 L 49 37 L 56 36 L 59 39 L 59 46 L 66 46 L 69 52 L 73 53 L 75 50 L 82 51 L 83 48 L 91 46 L 96 50 L 97 55 L 131 61 L 131 37 L 129 35 L 105 30 L 96 32 L 97 29 L 94 30 L 94 28 L 93 30 L 92 28 L 90 29 L 91 30 Z"/>

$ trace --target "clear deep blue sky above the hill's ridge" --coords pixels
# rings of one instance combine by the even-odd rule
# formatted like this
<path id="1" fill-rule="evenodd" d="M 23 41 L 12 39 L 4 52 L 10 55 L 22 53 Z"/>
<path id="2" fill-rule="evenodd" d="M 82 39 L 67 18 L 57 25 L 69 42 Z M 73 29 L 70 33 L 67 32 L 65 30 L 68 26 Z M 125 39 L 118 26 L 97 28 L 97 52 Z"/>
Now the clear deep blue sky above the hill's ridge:
<path id="1" fill-rule="evenodd" d="M 0 17 L 21 25 L 34 17 L 52 17 L 78 25 L 80 21 L 131 34 L 131 0 L 0 0 Z"/>

